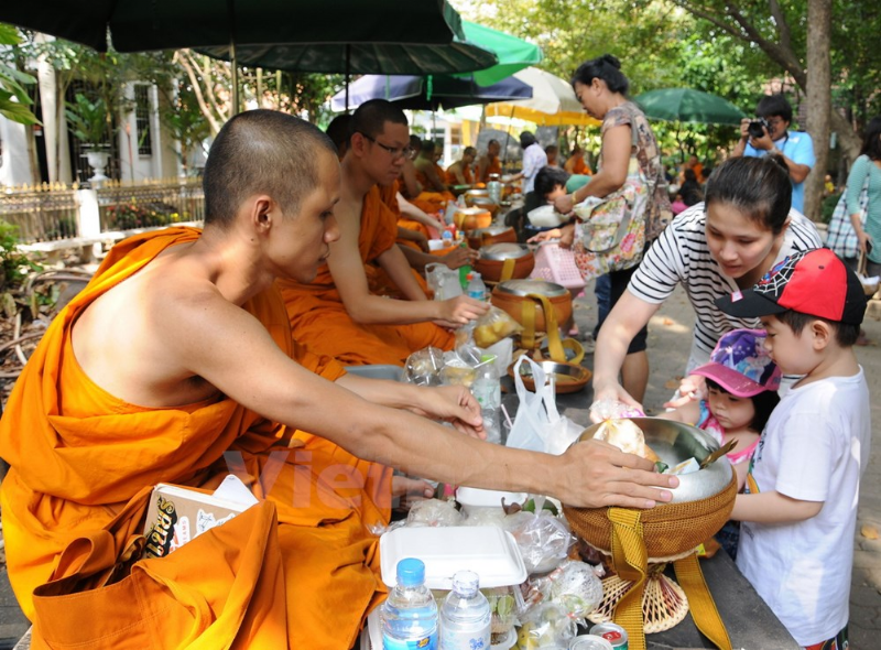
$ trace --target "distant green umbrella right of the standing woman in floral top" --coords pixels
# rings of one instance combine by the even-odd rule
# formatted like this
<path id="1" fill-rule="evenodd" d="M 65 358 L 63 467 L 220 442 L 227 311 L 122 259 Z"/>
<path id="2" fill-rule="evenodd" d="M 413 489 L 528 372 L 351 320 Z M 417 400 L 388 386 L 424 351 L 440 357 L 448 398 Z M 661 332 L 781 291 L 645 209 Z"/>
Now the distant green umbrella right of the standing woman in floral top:
<path id="1" fill-rule="evenodd" d="M 746 113 L 733 104 L 709 93 L 692 88 L 649 90 L 633 98 L 656 120 L 696 122 L 698 124 L 739 124 Z"/>

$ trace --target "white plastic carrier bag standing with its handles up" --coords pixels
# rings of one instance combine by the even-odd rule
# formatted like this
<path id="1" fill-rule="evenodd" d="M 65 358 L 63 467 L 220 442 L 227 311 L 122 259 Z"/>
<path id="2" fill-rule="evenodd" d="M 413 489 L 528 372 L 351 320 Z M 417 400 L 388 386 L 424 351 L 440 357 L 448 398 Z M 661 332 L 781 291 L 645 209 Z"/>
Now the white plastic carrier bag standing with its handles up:
<path id="1" fill-rule="evenodd" d="M 520 376 L 523 364 L 532 367 L 535 392 L 526 390 L 523 384 Z M 559 414 L 554 388 L 545 383 L 545 372 L 541 365 L 526 355 L 521 356 L 514 365 L 514 386 L 520 405 L 507 446 L 557 455 L 565 452 L 584 427 Z"/>

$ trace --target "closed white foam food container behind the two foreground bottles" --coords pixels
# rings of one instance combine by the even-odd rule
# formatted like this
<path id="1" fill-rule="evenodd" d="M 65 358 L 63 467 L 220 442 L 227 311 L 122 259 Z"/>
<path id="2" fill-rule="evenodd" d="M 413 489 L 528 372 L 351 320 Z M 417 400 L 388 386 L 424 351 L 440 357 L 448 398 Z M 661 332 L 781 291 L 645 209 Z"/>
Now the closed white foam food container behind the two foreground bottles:
<path id="1" fill-rule="evenodd" d="M 382 582 L 390 587 L 404 557 L 425 563 L 429 589 L 450 591 L 453 574 L 463 570 L 477 573 L 481 587 L 519 585 L 526 579 L 513 535 L 494 526 L 399 528 L 380 538 L 379 553 Z"/>

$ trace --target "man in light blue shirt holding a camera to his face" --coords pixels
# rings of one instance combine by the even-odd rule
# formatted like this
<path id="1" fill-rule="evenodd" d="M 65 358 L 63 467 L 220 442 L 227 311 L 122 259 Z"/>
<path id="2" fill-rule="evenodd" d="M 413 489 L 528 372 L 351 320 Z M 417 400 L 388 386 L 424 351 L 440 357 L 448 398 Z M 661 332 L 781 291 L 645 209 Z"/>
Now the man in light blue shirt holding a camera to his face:
<path id="1" fill-rule="evenodd" d="M 783 156 L 792 182 L 792 207 L 805 209 L 804 182 L 814 166 L 814 142 L 803 131 L 790 131 L 792 106 L 783 95 L 768 95 L 755 107 L 758 119 L 740 122 L 740 140 L 731 158 L 760 158 L 766 153 Z"/>

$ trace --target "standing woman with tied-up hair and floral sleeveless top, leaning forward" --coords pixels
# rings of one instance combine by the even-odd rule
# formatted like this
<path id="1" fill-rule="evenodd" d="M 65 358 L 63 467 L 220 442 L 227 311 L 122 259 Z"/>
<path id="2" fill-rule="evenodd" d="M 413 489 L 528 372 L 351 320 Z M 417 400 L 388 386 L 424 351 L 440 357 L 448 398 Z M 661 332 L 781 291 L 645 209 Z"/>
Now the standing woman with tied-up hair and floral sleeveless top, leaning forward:
<path id="1" fill-rule="evenodd" d="M 672 213 L 670 196 L 661 164 L 661 150 L 649 126 L 645 113 L 627 98 L 630 86 L 621 72 L 620 62 L 611 54 L 583 63 L 572 78 L 575 95 L 591 117 L 602 120 L 602 149 L 600 163 L 590 182 L 554 199 L 554 207 L 567 215 L 573 207 L 588 196 L 606 197 L 628 182 L 631 155 L 639 162 L 642 177 L 649 184 L 645 212 L 645 241 L 654 240 L 664 229 Z M 635 131 L 635 138 L 634 133 Z M 635 149 L 633 149 L 635 144 Z M 575 224 L 568 224 L 533 238 L 544 240 L 559 237 L 561 246 L 568 248 L 575 238 Z M 611 271 L 611 304 L 624 293 L 630 277 L 638 267 L 623 271 Z M 601 323 L 600 323 L 601 325 Z M 623 381 L 627 389 L 642 399 L 649 382 L 649 357 L 645 354 L 649 332 L 646 327 L 633 337 L 623 364 Z"/>

